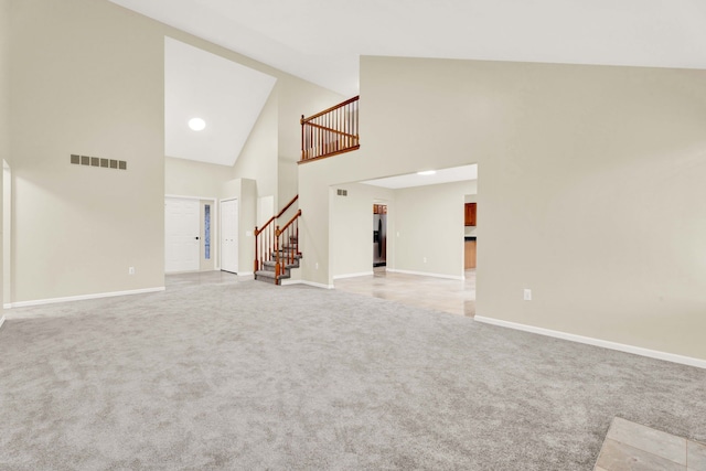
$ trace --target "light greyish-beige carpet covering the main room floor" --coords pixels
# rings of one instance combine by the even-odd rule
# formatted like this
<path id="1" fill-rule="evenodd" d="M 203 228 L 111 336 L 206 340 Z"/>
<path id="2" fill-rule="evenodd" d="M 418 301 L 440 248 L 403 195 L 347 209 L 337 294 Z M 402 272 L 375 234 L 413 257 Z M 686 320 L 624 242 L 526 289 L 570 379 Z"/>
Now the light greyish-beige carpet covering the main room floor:
<path id="1" fill-rule="evenodd" d="M 18 311 L 0 469 L 590 470 L 621 416 L 706 439 L 706 371 L 255 281 Z"/>

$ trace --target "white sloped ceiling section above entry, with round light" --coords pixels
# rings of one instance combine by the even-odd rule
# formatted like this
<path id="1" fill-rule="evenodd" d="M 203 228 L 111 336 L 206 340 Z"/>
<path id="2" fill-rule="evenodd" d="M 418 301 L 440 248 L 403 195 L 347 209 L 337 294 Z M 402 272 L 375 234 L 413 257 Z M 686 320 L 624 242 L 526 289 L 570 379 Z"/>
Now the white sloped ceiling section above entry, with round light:
<path id="1" fill-rule="evenodd" d="M 164 38 L 164 152 L 233 165 L 276 78 Z M 191 118 L 206 128 L 193 131 Z"/>

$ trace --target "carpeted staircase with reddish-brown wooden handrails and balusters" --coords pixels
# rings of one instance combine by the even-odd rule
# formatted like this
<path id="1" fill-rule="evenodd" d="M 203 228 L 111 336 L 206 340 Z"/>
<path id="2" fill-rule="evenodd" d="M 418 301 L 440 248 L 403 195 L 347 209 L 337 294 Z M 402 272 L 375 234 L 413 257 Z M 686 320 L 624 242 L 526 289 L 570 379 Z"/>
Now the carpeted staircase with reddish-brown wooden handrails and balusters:
<path id="1" fill-rule="evenodd" d="M 301 210 L 280 228 L 278 220 L 298 200 L 295 196 L 277 215 L 270 217 L 261 228 L 255 227 L 255 279 L 281 285 L 299 268 L 299 217 Z"/>

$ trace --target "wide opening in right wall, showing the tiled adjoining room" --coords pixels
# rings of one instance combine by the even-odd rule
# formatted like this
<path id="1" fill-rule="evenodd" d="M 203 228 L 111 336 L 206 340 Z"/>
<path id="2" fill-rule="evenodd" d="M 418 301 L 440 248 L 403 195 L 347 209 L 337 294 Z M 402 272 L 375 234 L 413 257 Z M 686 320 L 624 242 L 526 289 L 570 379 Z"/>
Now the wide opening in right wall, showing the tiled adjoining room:
<path id="1" fill-rule="evenodd" d="M 456 314 L 475 314 L 475 212 L 464 221 L 466 203 L 478 206 L 478 165 L 440 169 L 434 172 L 382 176 L 359 183 L 339 184 L 347 197 L 332 193 L 331 250 L 356 250 L 357 257 L 336 256 L 332 266 L 336 289 L 399 299 L 411 306 Z M 340 196 L 340 193 L 339 193 Z M 363 272 L 360 260 L 370 254 L 367 234 L 373 204 L 373 274 Z M 389 214 L 383 227 L 376 213 Z M 359 210 L 360 208 L 360 210 Z M 381 211 L 382 210 L 382 211 Z M 364 211 L 366 222 L 359 218 Z M 382 218 L 381 218 L 382 220 Z M 355 225 L 353 223 L 356 223 Z M 384 229 L 385 234 L 381 234 Z M 377 234 L 376 234 L 377 233 Z M 383 243 L 384 267 L 378 257 Z M 349 248 L 352 247 L 352 248 Z M 467 250 L 468 247 L 468 250 Z M 469 267 L 466 266 L 468 256 Z M 370 261 L 368 261 L 370 264 Z M 370 265 L 367 265 L 370 267 Z M 359 268 L 361 267 L 361 268 Z M 370 268 L 368 268 L 370 269 Z"/>

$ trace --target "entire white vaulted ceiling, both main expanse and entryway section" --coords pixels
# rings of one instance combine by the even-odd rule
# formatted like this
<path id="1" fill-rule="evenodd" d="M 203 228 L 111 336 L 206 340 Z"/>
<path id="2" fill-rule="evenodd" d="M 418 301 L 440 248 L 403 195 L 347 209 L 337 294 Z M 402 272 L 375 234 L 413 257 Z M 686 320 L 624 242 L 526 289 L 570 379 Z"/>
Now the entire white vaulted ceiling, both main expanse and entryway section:
<path id="1" fill-rule="evenodd" d="M 361 55 L 706 68 L 705 0 L 110 1 L 344 96 Z M 274 78 L 179 44 L 165 47 L 167 154 L 232 165 Z M 195 133 L 199 114 L 218 118 Z"/>

